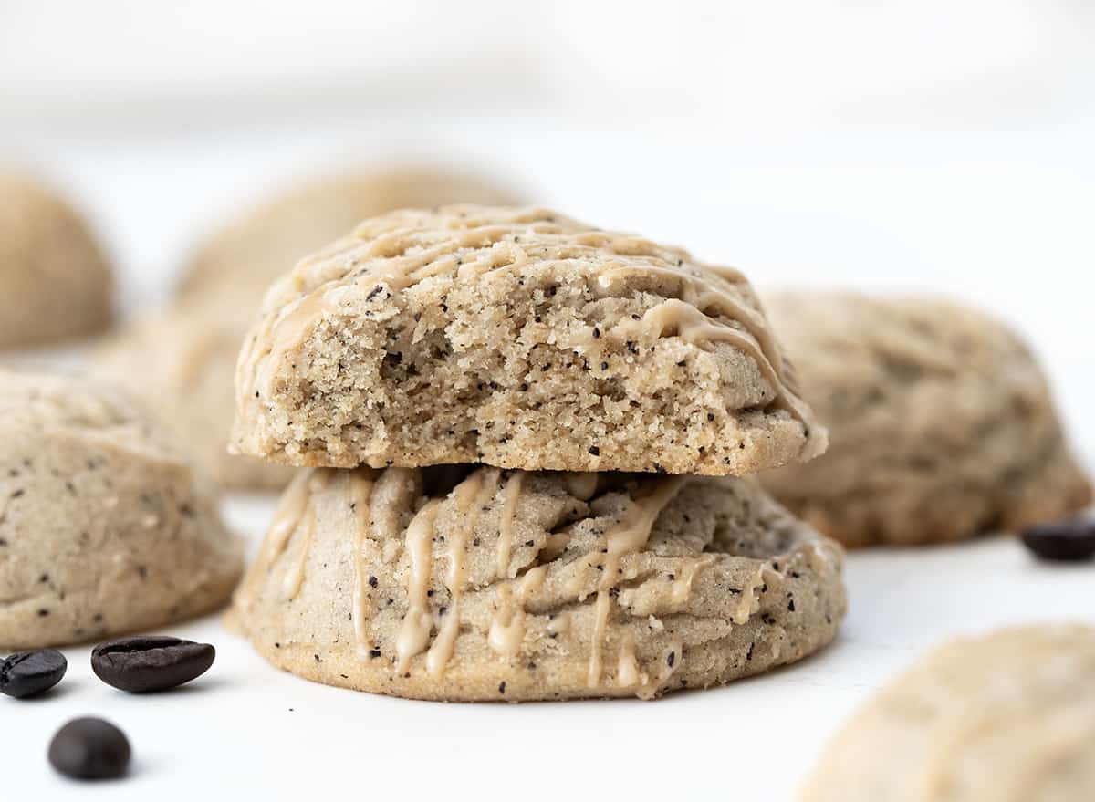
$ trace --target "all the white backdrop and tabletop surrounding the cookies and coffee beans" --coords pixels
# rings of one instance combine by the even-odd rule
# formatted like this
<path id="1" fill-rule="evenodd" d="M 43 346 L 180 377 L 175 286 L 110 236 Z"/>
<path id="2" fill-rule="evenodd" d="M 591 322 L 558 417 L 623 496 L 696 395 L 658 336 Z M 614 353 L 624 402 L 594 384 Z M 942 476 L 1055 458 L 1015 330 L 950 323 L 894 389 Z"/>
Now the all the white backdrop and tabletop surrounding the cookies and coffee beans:
<path id="1" fill-rule="evenodd" d="M 762 287 L 953 295 L 1025 333 L 1095 466 L 1092 42 L 1085 0 L 0 0 L 0 162 L 79 198 L 127 313 L 163 300 L 246 200 L 314 170 L 408 159 L 471 165 Z M 257 537 L 269 503 L 229 512 Z M 215 620 L 178 630 L 220 650 L 184 692 L 115 694 L 71 650 L 54 698 L 0 704 L 19 733 L 0 772 L 12 798 L 71 789 L 45 744 L 93 712 L 129 731 L 135 777 L 79 791 L 116 799 L 183 799 L 198 782 L 214 798 L 783 800 L 924 646 L 1095 620 L 1091 569 L 1036 566 L 1005 539 L 857 554 L 848 578 L 850 618 L 818 658 L 653 704 L 355 695 L 267 668 Z"/>

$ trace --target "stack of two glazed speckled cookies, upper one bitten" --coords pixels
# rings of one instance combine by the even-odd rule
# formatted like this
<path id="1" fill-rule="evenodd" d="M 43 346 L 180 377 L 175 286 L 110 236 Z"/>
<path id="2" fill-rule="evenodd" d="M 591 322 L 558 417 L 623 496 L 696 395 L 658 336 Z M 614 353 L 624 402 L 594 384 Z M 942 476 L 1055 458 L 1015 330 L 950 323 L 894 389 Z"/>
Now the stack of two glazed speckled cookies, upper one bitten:
<path id="1" fill-rule="evenodd" d="M 542 209 L 404 210 L 267 293 L 237 450 L 301 470 L 237 592 L 270 662 L 427 699 L 704 687 L 827 644 L 825 450 L 737 272 Z"/>

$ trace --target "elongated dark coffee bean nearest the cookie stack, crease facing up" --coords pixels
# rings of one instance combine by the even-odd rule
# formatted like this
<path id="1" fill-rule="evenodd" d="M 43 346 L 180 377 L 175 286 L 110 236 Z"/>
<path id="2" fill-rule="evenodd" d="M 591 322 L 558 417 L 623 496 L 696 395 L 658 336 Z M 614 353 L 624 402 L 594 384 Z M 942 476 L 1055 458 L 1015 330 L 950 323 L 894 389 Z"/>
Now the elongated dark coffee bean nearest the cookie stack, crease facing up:
<path id="1" fill-rule="evenodd" d="M 91 668 L 107 685 L 143 694 L 166 690 L 199 677 L 217 650 L 166 635 L 136 635 L 102 643 L 91 652 Z"/>

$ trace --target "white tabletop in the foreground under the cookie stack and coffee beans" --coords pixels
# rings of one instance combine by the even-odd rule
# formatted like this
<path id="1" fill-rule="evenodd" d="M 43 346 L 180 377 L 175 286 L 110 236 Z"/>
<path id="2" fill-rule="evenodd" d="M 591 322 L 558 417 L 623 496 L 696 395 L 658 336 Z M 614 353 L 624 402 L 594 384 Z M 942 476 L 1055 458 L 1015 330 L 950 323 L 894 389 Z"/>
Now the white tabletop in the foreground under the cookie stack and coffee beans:
<path id="1" fill-rule="evenodd" d="M 272 503 L 228 505 L 252 534 Z M 217 646 L 191 686 L 129 696 L 99 681 L 90 649 L 46 698 L 0 698 L 5 799 L 791 800 L 833 729 L 925 648 L 1039 620 L 1095 623 L 1095 566 L 1047 566 L 1011 538 L 853 554 L 851 614 L 828 650 L 725 688 L 655 702 L 442 704 L 328 688 L 275 671 L 217 617 L 170 628 Z M 132 775 L 55 776 L 45 751 L 77 715 L 129 735 Z M 41 797 L 31 797 L 41 792 Z"/>

